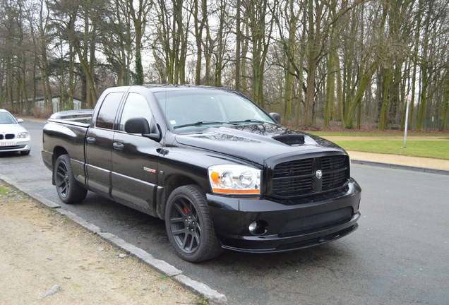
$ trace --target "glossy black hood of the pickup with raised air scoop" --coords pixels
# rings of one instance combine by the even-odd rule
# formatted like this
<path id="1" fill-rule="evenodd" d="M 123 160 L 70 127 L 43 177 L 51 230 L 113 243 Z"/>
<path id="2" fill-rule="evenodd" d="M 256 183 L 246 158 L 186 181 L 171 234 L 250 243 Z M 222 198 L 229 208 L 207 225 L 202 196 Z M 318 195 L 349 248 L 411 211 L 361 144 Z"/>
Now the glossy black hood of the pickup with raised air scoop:
<path id="1" fill-rule="evenodd" d="M 260 165 L 275 156 L 284 158 L 330 151 L 345 153 L 340 146 L 324 138 L 268 124 L 210 127 L 199 133 L 178 134 L 176 142 Z"/>

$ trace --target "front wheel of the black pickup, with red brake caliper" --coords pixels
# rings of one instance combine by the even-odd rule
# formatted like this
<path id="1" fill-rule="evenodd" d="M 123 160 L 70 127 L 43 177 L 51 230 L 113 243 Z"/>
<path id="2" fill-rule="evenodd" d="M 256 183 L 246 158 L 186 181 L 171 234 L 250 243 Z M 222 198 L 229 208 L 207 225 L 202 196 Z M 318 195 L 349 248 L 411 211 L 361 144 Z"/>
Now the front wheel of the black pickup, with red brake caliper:
<path id="1" fill-rule="evenodd" d="M 195 185 L 180 186 L 165 207 L 165 228 L 176 254 L 197 263 L 222 253 L 204 192 Z"/>

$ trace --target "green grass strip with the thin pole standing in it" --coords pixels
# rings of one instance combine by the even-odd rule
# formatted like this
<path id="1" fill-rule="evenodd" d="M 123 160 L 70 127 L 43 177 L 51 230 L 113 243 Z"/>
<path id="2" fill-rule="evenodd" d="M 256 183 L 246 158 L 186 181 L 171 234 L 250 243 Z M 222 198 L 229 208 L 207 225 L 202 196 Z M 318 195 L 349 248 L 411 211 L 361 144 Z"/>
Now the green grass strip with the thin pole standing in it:
<path id="1" fill-rule="evenodd" d="M 335 143 L 345 150 L 449 160 L 449 142 L 446 141 L 407 140 L 407 148 L 401 148 L 402 140 L 337 140 Z"/>

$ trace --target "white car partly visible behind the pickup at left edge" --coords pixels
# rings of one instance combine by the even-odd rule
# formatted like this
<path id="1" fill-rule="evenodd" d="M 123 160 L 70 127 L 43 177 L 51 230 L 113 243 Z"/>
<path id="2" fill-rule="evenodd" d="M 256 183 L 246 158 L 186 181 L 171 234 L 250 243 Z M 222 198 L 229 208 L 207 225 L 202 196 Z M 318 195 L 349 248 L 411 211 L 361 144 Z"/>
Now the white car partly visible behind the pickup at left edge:
<path id="1" fill-rule="evenodd" d="M 20 152 L 30 154 L 30 133 L 19 125 L 23 119 L 16 120 L 5 109 L 0 109 L 0 152 Z"/>

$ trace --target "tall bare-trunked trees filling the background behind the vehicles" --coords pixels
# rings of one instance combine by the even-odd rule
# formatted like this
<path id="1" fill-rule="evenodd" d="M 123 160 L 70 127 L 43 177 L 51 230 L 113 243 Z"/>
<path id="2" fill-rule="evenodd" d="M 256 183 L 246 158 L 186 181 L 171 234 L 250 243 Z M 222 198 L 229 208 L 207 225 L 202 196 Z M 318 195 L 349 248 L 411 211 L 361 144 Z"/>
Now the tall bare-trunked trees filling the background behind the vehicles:
<path id="1" fill-rule="evenodd" d="M 449 0 L 1 0 L 0 107 L 234 88 L 295 128 L 448 128 Z M 44 109 L 35 100 L 44 101 Z"/>

